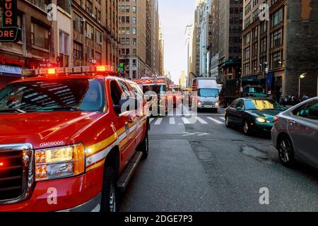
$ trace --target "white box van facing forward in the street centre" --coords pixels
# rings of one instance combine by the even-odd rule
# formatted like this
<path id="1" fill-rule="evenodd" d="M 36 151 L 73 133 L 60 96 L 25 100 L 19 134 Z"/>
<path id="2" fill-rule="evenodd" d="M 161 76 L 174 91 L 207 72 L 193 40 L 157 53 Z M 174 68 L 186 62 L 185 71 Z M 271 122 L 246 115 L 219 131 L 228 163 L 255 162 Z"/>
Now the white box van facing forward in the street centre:
<path id="1" fill-rule="evenodd" d="M 198 109 L 213 109 L 218 112 L 220 107 L 220 86 L 211 78 L 195 78 L 193 91 L 197 92 Z"/>

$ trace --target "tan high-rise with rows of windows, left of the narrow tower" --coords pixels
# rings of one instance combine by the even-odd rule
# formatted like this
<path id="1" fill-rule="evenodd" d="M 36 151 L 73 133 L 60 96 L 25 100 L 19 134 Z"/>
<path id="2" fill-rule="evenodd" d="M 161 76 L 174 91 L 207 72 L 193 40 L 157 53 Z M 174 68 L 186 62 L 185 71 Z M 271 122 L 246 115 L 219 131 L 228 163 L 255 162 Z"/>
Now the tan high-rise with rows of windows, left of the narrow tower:
<path id="1" fill-rule="evenodd" d="M 146 64 L 146 1 L 119 1 L 119 63 L 126 78 L 136 79 L 150 71 Z"/>

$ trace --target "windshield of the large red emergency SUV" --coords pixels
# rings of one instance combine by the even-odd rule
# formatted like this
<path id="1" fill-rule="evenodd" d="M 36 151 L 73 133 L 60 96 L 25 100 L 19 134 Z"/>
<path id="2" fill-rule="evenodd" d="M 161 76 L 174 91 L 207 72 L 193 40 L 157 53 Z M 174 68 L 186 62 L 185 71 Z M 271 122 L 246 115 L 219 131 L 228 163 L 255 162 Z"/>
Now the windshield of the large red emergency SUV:
<path id="1" fill-rule="evenodd" d="M 13 83 L 0 90 L 4 112 L 102 112 L 105 95 L 98 79 L 69 79 Z"/>

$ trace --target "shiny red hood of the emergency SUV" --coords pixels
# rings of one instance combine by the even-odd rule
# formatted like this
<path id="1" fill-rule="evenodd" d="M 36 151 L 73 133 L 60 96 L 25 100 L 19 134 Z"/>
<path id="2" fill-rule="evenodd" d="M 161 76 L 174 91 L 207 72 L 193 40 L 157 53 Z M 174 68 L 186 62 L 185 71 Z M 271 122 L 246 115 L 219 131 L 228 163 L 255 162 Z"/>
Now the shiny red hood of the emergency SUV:
<path id="1" fill-rule="evenodd" d="M 95 112 L 36 112 L 0 115 L 0 144 L 31 143 L 33 148 L 66 145 Z"/>

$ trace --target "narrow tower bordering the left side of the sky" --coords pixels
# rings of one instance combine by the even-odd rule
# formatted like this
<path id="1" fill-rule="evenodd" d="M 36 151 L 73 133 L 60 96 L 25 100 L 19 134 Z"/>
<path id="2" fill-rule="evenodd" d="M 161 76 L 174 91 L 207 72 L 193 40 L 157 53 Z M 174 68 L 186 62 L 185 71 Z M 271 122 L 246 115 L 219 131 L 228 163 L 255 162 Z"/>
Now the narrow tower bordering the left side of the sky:
<path id="1" fill-rule="evenodd" d="M 151 69 L 148 75 L 160 76 L 158 0 L 146 0 L 146 8 L 146 63 Z"/>

